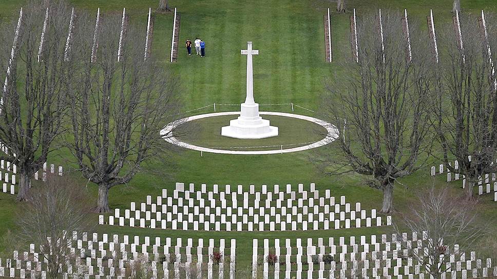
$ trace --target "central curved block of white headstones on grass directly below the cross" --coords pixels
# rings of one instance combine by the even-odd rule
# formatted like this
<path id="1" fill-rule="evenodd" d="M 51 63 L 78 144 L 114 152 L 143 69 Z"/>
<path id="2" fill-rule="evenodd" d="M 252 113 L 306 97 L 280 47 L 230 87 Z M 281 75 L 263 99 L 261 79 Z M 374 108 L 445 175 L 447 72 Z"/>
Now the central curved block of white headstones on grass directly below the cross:
<path id="1" fill-rule="evenodd" d="M 202 184 L 196 190 L 190 184 L 185 190 L 183 183 L 177 183 L 172 195 L 163 189 L 154 200 L 147 196 L 139 206 L 132 202 L 128 209 L 117 208 L 108 218 L 100 215 L 99 224 L 194 231 L 296 231 L 388 226 L 392 222 L 391 216 L 377 216 L 375 209 L 347 203 L 345 196 L 335 198 L 330 190 L 321 196 L 315 184 L 305 190 L 299 184 L 296 191 L 291 185 L 272 189 L 262 185 L 260 192 L 254 185 L 248 192 L 241 185 L 233 188 L 214 185 L 207 191 Z"/>

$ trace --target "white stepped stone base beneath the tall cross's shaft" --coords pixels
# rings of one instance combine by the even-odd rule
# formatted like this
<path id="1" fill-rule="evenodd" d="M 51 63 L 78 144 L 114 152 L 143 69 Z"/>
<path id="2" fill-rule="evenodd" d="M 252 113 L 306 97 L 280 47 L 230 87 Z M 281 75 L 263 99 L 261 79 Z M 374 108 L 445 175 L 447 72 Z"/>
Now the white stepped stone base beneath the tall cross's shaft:
<path id="1" fill-rule="evenodd" d="M 234 138 L 265 138 L 278 135 L 278 127 L 259 116 L 259 104 L 241 104 L 240 116 L 221 128 L 221 135 Z"/>

